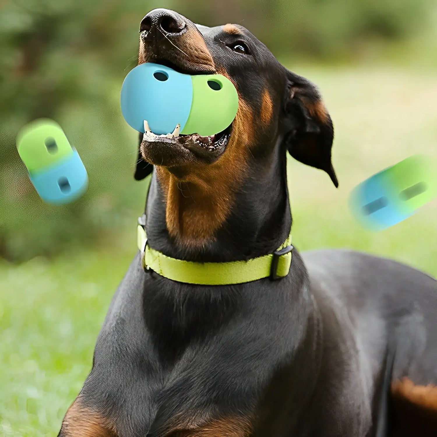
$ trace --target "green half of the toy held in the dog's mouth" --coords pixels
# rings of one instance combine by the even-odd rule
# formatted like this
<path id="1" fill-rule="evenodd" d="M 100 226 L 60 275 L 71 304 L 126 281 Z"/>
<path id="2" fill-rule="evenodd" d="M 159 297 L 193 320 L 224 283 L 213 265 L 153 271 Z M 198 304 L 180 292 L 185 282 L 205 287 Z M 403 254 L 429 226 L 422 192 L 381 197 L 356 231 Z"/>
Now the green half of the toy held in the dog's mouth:
<path id="1" fill-rule="evenodd" d="M 233 83 L 221 74 L 194 75 L 193 102 L 181 134 L 215 135 L 225 130 L 238 110 L 238 93 Z"/>

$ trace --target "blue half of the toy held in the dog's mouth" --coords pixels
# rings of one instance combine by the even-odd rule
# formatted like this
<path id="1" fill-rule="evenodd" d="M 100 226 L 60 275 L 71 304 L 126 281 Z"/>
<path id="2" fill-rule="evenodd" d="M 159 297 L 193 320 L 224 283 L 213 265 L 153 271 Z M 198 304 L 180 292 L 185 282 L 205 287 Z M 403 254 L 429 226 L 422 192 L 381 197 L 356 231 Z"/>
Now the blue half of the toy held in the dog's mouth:
<path id="1" fill-rule="evenodd" d="M 128 124 L 144 132 L 144 120 L 157 135 L 182 132 L 191 111 L 191 76 L 146 62 L 132 69 L 121 87 L 121 112 Z"/>

